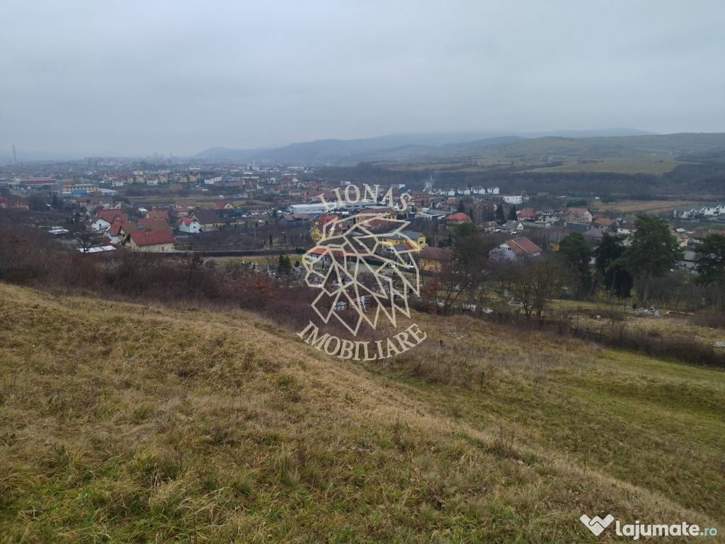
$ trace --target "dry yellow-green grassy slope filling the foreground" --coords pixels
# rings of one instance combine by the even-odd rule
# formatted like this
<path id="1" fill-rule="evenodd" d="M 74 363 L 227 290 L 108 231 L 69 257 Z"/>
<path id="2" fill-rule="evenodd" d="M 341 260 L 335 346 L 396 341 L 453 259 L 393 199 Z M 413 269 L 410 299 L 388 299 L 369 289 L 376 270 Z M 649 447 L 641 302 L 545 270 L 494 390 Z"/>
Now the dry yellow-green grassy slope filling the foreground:
<path id="1" fill-rule="evenodd" d="M 724 527 L 722 372 L 421 327 L 363 368 L 248 314 L 0 284 L 0 542 L 612 540 L 584 512 Z"/>

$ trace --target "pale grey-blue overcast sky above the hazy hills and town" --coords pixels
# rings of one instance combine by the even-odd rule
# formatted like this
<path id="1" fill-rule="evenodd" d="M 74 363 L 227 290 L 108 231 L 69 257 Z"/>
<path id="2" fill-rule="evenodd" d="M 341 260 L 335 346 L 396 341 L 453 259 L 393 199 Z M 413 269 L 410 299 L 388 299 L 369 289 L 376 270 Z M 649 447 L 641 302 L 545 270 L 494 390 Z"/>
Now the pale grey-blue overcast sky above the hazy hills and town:
<path id="1" fill-rule="evenodd" d="M 412 131 L 725 131 L 725 1 L 0 8 L 0 155 Z"/>

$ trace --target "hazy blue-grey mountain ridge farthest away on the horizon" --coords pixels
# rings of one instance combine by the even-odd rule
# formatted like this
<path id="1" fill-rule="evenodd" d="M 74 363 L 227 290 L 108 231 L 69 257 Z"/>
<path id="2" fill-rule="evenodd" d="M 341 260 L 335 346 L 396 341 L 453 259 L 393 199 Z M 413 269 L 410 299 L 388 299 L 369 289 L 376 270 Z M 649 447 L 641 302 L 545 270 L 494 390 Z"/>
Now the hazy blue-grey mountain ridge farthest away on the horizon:
<path id="1" fill-rule="evenodd" d="M 618 129 L 625 131 L 626 129 Z M 566 131 L 563 131 L 566 132 Z M 593 131 L 592 131 L 593 132 Z M 636 131 L 630 131 L 636 132 Z M 204 160 L 257 160 L 355 164 L 364 161 L 481 160 L 484 162 L 537 162 L 600 160 L 638 154 L 679 154 L 725 149 L 723 133 L 638 134 L 631 136 L 564 137 L 476 133 L 398 134 L 354 140 L 316 140 L 265 150 L 212 148 L 197 154 Z"/>

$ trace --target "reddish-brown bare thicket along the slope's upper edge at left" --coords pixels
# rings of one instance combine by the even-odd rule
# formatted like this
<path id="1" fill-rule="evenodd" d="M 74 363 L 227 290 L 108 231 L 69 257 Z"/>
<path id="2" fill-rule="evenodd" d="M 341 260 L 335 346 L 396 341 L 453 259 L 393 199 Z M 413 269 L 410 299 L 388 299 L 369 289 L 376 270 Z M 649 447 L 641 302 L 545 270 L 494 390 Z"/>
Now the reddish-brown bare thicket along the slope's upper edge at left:
<path id="1" fill-rule="evenodd" d="M 254 310 L 281 324 L 304 326 L 315 293 L 240 265 L 201 257 L 133 252 L 81 255 L 62 250 L 37 229 L 0 219 L 0 280 L 31 287 L 91 291 L 171 304 Z"/>

